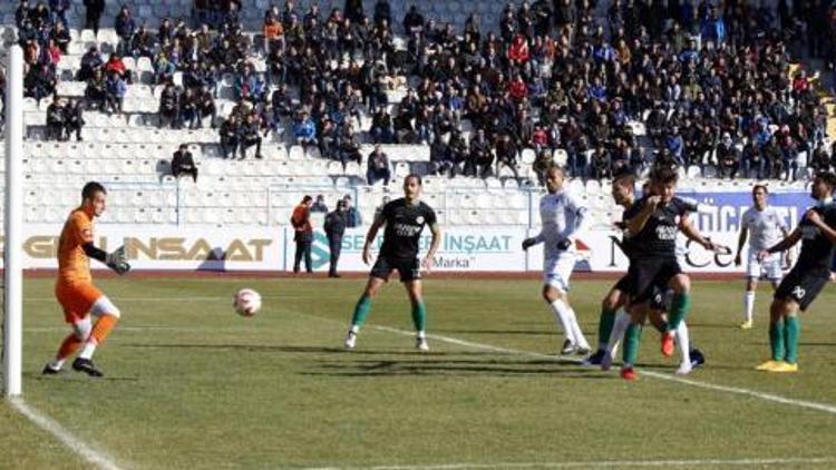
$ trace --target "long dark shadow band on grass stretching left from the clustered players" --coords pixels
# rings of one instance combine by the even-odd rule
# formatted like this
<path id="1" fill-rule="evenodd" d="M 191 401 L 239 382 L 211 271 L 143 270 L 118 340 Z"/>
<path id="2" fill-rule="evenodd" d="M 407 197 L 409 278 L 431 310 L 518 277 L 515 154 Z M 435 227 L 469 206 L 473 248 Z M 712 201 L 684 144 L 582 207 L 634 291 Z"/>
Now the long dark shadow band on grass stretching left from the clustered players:
<path id="1" fill-rule="evenodd" d="M 565 368 L 564 365 L 575 365 Z M 558 375 L 561 378 L 607 379 L 595 369 L 582 369 L 576 362 L 561 360 L 478 361 L 478 360 L 358 360 L 323 362 L 321 371 L 305 371 L 302 375 L 393 378 L 404 375 Z"/>

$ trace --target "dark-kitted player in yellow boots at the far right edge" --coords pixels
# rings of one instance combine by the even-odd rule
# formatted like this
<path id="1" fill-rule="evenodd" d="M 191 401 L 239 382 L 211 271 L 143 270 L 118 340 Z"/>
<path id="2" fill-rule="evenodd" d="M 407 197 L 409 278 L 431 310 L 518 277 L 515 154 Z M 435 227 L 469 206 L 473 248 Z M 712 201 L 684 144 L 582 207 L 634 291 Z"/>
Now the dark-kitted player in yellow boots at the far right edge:
<path id="1" fill-rule="evenodd" d="M 813 180 L 810 196 L 818 204 L 804 214 L 798 227 L 789 236 L 758 253 L 758 257 L 762 260 L 772 253 L 789 249 L 799 239 L 803 241 L 798 262 L 775 291 L 772 304 L 769 306 L 769 345 L 772 358 L 758 365 L 759 371 L 798 371 L 798 312 L 807 310 L 830 278 L 830 264 L 836 244 L 834 188 L 836 175 L 827 172 L 817 174 Z"/>

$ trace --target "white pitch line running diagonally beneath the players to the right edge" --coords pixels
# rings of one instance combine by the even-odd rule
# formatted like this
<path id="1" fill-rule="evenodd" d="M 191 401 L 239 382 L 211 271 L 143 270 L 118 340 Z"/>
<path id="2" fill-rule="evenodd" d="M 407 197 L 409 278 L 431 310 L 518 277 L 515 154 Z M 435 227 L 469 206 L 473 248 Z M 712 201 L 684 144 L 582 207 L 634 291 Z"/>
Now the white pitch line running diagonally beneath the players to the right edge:
<path id="1" fill-rule="evenodd" d="M 387 332 L 390 332 L 390 333 L 397 333 L 397 334 L 400 334 L 400 335 L 412 336 L 415 334 L 414 332 L 409 332 L 409 331 L 406 331 L 406 330 L 393 329 L 393 327 L 389 327 L 389 326 L 370 325 L 370 327 L 372 327 L 375 330 L 387 331 Z M 458 340 L 456 337 L 449 337 L 449 336 L 441 336 L 441 335 L 438 335 L 438 334 L 428 334 L 427 337 L 431 339 L 431 340 L 436 340 L 436 341 L 441 341 L 441 342 L 446 342 L 446 343 L 450 343 L 450 344 L 458 344 L 460 346 L 479 349 L 479 350 L 484 350 L 484 351 L 502 352 L 502 353 L 506 353 L 506 354 L 524 355 L 524 356 L 537 358 L 537 359 L 555 359 L 555 358 L 558 358 L 561 360 L 571 361 L 571 362 L 575 362 L 575 363 L 579 363 L 579 364 L 581 362 L 583 362 L 583 361 L 581 361 L 579 359 L 575 359 L 575 358 L 555 356 L 555 355 L 535 353 L 535 352 L 529 352 L 529 351 L 522 351 L 522 350 L 514 350 L 514 349 L 508 349 L 508 347 L 494 346 L 494 345 L 490 345 L 490 344 L 474 343 L 474 342 L 470 342 L 470 341 Z M 757 399 L 761 399 L 761 400 L 767 400 L 767 401 L 771 401 L 771 402 L 776 402 L 776 403 L 789 404 L 789 405 L 794 405 L 794 407 L 807 408 L 807 409 L 810 409 L 810 410 L 824 411 L 824 412 L 827 412 L 827 413 L 836 414 L 836 407 L 830 405 L 830 404 L 817 403 L 817 402 L 807 401 L 807 400 L 788 399 L 786 396 L 776 395 L 774 393 L 758 392 L 756 390 L 742 389 L 742 388 L 737 388 L 737 386 L 716 385 L 713 383 L 699 382 L 699 381 L 691 380 L 691 379 L 683 379 L 683 378 L 680 378 L 680 376 L 663 374 L 661 372 L 654 372 L 654 371 L 648 371 L 648 370 L 642 370 L 642 375 L 644 375 L 644 376 L 651 376 L 653 379 L 659 379 L 659 380 L 667 380 L 669 382 L 681 383 L 681 384 L 684 384 L 684 385 L 697 386 L 697 388 L 700 388 L 700 389 L 715 390 L 715 391 L 727 392 L 727 393 L 735 393 L 735 394 L 739 394 L 739 395 L 747 395 L 747 396 L 752 396 L 752 398 L 757 398 Z"/>

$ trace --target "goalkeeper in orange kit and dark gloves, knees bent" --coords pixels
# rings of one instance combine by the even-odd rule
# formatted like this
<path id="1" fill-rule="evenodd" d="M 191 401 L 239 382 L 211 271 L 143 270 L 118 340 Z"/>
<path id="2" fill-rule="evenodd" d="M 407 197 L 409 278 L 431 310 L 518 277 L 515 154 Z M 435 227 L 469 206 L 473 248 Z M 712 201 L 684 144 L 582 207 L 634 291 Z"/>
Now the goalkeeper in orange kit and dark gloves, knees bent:
<path id="1" fill-rule="evenodd" d="M 72 361 L 72 369 L 90 376 L 104 375 L 94 365 L 93 354 L 119 321 L 119 309 L 93 285 L 89 258 L 105 263 L 120 275 L 130 270 L 124 247 L 108 254 L 93 244 L 93 222 L 105 212 L 106 199 L 104 186 L 87 183 L 81 190 L 81 206 L 74 209 L 64 224 L 58 241 L 55 294 L 72 332 L 61 343 L 55 360 L 43 366 L 43 374 L 61 372 L 67 359 L 81 349 Z M 90 314 L 97 317 L 95 324 L 90 321 Z"/>

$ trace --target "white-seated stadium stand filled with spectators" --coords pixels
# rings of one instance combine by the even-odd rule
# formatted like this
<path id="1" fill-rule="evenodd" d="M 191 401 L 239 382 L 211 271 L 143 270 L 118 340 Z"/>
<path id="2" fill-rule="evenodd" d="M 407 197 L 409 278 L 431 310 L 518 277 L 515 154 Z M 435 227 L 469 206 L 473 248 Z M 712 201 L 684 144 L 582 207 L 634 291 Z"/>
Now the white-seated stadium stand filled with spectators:
<path id="1" fill-rule="evenodd" d="M 834 105 L 823 78 L 807 72 L 832 61 L 822 45 L 833 42 L 825 39 L 834 28 L 804 27 L 829 10 L 571 0 L 454 0 L 419 10 L 367 0 L 363 23 L 357 11 L 317 10 L 321 2 L 245 3 L 236 11 L 236 1 L 130 1 L 127 21 L 117 20 L 121 2 L 108 1 L 94 31 L 81 29 L 84 6 L 70 2 L 61 32 L 57 13 L 0 2 L 2 49 L 20 42 L 29 67 L 27 221 L 61 222 L 88 179 L 114 194 L 103 222 L 286 224 L 300 193 L 323 194 L 329 206 L 353 194 L 370 221 L 414 172 L 426 175 L 427 198 L 446 224 L 526 225 L 537 218 L 538 172 L 555 161 L 570 169 L 595 222 L 609 224 L 606 178 L 619 165 L 636 173 L 675 165 L 692 187 L 752 177 L 800 186 L 819 141 L 834 155 Z M 808 60 L 798 66 L 797 57 Z M 111 76 L 124 79 L 121 92 Z M 212 111 L 193 118 L 202 101 L 185 89 L 206 91 Z M 95 105 L 101 90 L 116 94 L 118 108 Z M 80 140 L 69 129 L 50 135 L 55 98 L 87 102 Z M 161 117 L 166 99 L 171 119 Z M 302 111 L 317 145 L 297 145 Z M 241 116 L 239 135 L 252 123 L 263 136 L 262 158 L 254 150 L 224 158 L 218 128 L 231 115 Z M 511 136 L 511 165 L 494 159 L 484 178 L 473 176 L 476 163 L 468 172 L 477 129 L 489 141 Z M 182 143 L 197 184 L 169 176 Z M 367 184 L 375 144 L 391 165 L 388 187 Z M 353 151 L 359 161 L 346 157 Z M 728 173 L 742 182 L 719 179 Z"/>

